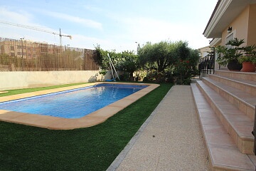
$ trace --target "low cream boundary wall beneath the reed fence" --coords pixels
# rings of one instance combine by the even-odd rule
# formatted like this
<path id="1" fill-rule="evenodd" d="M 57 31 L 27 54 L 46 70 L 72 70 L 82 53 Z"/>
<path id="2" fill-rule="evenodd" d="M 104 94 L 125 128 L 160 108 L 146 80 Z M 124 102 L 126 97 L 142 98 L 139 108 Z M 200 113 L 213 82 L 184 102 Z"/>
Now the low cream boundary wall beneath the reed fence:
<path id="1" fill-rule="evenodd" d="M 108 79 L 107 74 L 103 80 Z M 101 81 L 99 71 L 12 71 L 0 72 L 0 90 L 37 88 L 70 83 Z"/>

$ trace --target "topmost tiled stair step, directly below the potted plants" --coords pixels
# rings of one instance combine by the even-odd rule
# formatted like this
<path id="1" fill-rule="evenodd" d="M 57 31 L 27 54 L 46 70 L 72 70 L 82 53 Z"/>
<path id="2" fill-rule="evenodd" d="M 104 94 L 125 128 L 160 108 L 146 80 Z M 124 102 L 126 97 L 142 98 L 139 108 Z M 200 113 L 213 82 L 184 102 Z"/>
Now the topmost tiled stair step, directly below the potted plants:
<path id="1" fill-rule="evenodd" d="M 218 76 L 227 76 L 231 78 L 238 78 L 245 81 L 256 81 L 256 73 L 247 73 L 240 71 L 218 71 L 215 70 L 215 74 Z"/>

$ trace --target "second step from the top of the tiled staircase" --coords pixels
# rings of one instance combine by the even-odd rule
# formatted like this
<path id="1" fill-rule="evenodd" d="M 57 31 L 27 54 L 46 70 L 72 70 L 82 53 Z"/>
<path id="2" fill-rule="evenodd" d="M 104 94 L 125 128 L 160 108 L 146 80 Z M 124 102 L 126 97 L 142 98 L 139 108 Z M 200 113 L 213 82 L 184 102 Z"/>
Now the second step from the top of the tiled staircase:
<path id="1" fill-rule="evenodd" d="M 218 76 L 214 74 L 210 74 L 209 78 L 220 83 L 224 83 L 225 85 L 231 86 L 238 90 L 242 90 L 245 93 L 250 93 L 251 95 L 254 95 L 256 98 L 256 81 L 246 81 L 240 78 Z"/>

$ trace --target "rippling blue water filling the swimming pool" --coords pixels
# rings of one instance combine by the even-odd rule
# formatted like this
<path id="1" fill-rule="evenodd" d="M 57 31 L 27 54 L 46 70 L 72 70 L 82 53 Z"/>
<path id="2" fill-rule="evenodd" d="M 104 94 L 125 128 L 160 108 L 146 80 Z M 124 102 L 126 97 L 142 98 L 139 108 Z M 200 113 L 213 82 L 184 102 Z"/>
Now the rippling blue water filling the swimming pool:
<path id="1" fill-rule="evenodd" d="M 0 109 L 60 118 L 82 118 L 145 87 L 99 84 L 0 103 Z"/>

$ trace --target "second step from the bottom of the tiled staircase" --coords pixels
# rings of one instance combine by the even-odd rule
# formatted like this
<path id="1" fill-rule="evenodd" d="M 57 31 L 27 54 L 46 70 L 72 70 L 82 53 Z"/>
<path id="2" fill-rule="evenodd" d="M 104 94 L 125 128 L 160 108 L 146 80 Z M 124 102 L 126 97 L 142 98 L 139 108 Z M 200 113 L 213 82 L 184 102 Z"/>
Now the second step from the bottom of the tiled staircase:
<path id="1" fill-rule="evenodd" d="M 197 85 L 211 108 L 213 108 L 214 113 L 218 115 L 225 130 L 233 138 L 238 149 L 242 153 L 253 154 L 253 120 L 238 110 L 235 105 L 229 103 L 225 98 L 216 93 L 206 83 L 203 83 L 203 81 L 197 81 Z"/>

